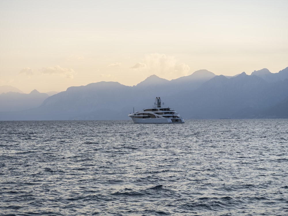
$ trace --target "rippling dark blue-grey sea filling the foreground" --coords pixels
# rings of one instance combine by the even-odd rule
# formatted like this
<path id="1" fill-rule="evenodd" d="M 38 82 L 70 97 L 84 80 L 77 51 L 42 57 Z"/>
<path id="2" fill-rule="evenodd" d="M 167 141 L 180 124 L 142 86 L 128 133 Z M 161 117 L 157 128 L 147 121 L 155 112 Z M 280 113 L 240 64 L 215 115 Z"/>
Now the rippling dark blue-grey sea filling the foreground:
<path id="1" fill-rule="evenodd" d="M 1 121 L 0 215 L 288 215 L 288 120 Z"/>

